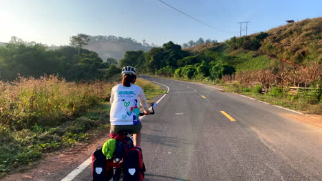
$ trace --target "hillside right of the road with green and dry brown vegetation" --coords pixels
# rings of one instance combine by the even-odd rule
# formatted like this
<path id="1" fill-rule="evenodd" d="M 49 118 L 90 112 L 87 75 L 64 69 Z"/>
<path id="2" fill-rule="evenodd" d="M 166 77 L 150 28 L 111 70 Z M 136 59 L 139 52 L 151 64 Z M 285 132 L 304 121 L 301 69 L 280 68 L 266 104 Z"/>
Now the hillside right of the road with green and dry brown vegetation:
<path id="1" fill-rule="evenodd" d="M 206 51 L 228 56 L 226 61 L 238 71 L 255 71 L 281 62 L 301 66 L 322 62 L 322 18 L 305 19 L 280 27 L 185 49 L 197 55 Z"/>

